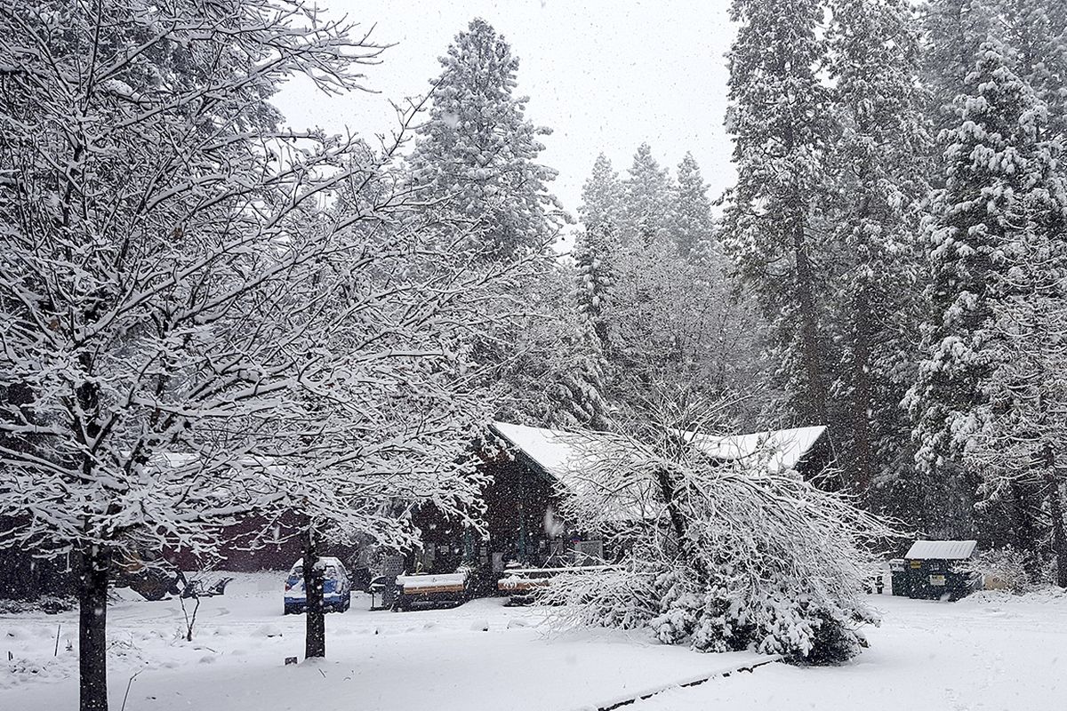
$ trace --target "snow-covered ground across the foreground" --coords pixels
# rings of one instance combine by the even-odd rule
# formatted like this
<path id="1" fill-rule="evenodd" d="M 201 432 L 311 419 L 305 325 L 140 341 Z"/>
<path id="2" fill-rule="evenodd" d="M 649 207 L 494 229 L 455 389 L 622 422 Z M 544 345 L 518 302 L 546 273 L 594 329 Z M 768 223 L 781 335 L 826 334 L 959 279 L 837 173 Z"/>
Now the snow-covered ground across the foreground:
<path id="1" fill-rule="evenodd" d="M 241 576 L 224 597 L 206 599 L 192 643 L 180 639 L 177 601 L 116 602 L 109 613 L 112 708 L 121 708 L 140 670 L 127 711 L 569 711 L 759 659 L 699 655 L 639 634 L 553 635 L 542 611 L 505 608 L 500 599 L 392 613 L 369 612 L 369 598 L 354 597 L 349 612 L 327 616 L 328 659 L 286 667 L 286 657 L 302 658 L 303 618 L 282 616 L 281 581 L 281 573 Z M 942 603 L 883 596 L 878 604 L 885 623 L 870 630 L 872 648 L 848 665 L 769 664 L 623 708 L 1064 708 L 1067 597 L 982 594 Z M 76 650 L 74 613 L 0 616 L 0 709 L 76 708 Z"/>

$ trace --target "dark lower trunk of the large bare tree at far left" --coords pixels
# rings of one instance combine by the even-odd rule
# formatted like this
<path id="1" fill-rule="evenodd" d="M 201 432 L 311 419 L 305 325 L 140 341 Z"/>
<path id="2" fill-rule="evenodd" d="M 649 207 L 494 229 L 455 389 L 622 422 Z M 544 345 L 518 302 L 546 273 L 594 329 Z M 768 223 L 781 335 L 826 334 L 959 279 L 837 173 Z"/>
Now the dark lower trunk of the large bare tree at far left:
<path id="1" fill-rule="evenodd" d="M 80 711 L 108 711 L 108 572 L 111 552 L 97 545 L 81 555 L 78 586 Z"/>

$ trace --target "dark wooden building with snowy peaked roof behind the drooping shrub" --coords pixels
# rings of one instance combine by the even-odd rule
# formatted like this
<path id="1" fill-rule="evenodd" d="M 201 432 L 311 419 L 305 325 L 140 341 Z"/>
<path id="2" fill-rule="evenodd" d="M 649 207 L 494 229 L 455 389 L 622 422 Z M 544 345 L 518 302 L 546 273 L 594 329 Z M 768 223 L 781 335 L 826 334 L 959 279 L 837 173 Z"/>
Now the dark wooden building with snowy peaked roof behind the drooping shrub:
<path id="1" fill-rule="evenodd" d="M 561 518 L 561 502 L 580 495 L 582 468 L 596 451 L 599 433 L 573 433 L 507 422 L 491 425 L 496 441 L 478 447 L 491 479 L 483 491 L 488 535 L 440 518 L 432 508 L 415 516 L 423 549 L 409 556 L 409 572 L 442 575 L 465 567 L 474 592 L 495 591 L 506 569 L 610 563 L 616 551 Z M 680 432 L 708 458 L 775 471 L 821 475 L 832 458 L 826 427 L 743 435 Z"/>

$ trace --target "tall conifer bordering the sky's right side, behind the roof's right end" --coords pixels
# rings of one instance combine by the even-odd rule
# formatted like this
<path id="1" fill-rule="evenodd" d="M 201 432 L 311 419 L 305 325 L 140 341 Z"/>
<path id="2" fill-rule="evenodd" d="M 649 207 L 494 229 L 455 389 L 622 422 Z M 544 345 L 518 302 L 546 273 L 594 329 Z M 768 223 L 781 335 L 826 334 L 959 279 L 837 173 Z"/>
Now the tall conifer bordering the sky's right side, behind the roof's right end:
<path id="1" fill-rule="evenodd" d="M 773 353 L 793 413 L 827 423 L 821 228 L 829 115 L 821 0 L 734 0 L 727 130 L 737 182 L 723 249 L 771 321 Z M 830 423 L 832 425 L 832 423 Z"/>

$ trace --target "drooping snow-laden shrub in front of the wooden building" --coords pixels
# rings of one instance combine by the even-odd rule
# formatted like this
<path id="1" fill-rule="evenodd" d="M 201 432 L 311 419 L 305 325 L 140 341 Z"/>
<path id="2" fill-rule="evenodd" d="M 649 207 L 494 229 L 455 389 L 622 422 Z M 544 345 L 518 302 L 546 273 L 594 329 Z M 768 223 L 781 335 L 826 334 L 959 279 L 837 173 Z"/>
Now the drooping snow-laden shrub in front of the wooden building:
<path id="1" fill-rule="evenodd" d="M 666 644 L 754 649 L 833 663 L 877 624 L 864 583 L 882 520 L 795 472 L 600 438 L 570 517 L 625 550 L 604 572 L 574 571 L 543 593 L 561 624 L 647 627 Z"/>

